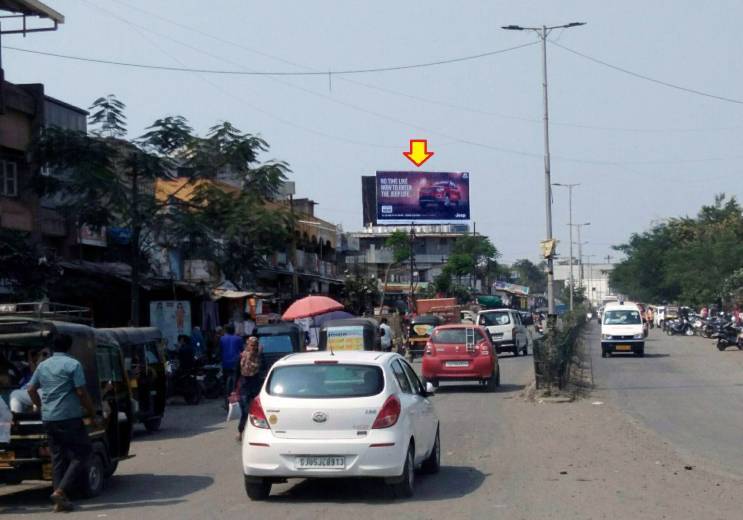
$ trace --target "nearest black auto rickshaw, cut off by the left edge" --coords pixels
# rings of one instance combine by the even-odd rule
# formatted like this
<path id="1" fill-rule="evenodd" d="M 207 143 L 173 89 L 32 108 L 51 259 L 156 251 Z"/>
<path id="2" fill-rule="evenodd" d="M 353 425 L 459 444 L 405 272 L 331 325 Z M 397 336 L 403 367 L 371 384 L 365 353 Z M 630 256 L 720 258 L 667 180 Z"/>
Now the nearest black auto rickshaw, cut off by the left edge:
<path id="1" fill-rule="evenodd" d="M 52 478 L 46 432 L 24 385 L 50 353 L 54 338 L 67 334 L 72 337 L 69 355 L 82 364 L 88 393 L 102 418 L 86 420 L 93 455 L 79 488 L 83 496 L 96 496 L 119 461 L 129 457 L 132 405 L 121 350 L 113 341 L 97 343 L 90 326 L 55 321 L 60 316 L 52 313 L 32 317 L 9 309 L 13 305 L 0 306 L 0 483 Z"/>

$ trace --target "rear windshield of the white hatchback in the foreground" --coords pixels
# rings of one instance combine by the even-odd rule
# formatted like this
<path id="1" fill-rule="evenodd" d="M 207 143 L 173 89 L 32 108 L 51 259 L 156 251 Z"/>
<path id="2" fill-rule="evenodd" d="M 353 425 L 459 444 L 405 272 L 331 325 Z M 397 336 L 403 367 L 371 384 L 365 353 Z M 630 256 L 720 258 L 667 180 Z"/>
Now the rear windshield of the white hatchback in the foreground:
<path id="1" fill-rule="evenodd" d="M 277 397 L 368 397 L 384 389 L 382 369 L 371 365 L 291 365 L 271 372 L 266 391 Z"/>

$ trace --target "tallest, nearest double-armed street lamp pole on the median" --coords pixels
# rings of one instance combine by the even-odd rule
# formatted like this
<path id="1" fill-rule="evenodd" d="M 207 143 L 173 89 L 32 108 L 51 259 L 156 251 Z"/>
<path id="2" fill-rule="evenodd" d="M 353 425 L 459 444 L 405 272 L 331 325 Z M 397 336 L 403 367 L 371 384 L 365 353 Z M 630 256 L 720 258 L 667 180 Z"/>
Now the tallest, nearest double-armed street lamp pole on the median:
<path id="1" fill-rule="evenodd" d="M 542 41 L 542 97 L 544 104 L 544 202 L 546 212 L 547 241 L 552 241 L 552 184 L 550 180 L 550 141 L 549 141 L 549 104 L 547 96 L 547 36 L 554 29 L 569 29 L 585 25 L 583 22 L 572 22 L 565 25 L 547 27 L 521 27 L 520 25 L 505 25 L 502 29 L 508 31 L 533 31 Z M 548 327 L 552 328 L 555 323 L 555 287 L 554 287 L 554 264 L 552 255 L 547 257 L 547 320 Z M 572 290 L 572 288 L 571 288 Z"/>

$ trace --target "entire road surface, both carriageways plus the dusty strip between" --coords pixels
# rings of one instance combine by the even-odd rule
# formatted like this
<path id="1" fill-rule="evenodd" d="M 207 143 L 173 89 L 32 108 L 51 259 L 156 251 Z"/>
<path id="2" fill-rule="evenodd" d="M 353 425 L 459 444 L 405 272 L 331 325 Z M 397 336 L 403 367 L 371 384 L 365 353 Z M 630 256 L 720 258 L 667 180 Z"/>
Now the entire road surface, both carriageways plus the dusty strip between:
<path id="1" fill-rule="evenodd" d="M 593 325 L 594 339 L 596 331 Z M 502 387 L 494 394 L 477 386 L 442 386 L 433 400 L 441 419 L 443 467 L 438 475 L 421 476 L 408 500 L 394 499 L 378 481 L 360 479 L 292 480 L 275 486 L 268 501 L 250 502 L 235 423 L 224 423 L 216 401 L 173 404 L 160 432 L 137 429 L 136 457 L 121 464 L 100 497 L 79 502 L 75 517 L 739 519 L 743 479 L 723 474 L 720 457 L 708 451 L 719 441 L 725 457 L 740 456 L 735 445 L 741 414 L 732 402 L 738 387 L 731 367 L 743 352 L 722 354 L 701 340 L 653 335 L 648 353 L 644 359 L 602 360 L 594 349 L 599 388 L 573 403 L 527 399 L 531 356 L 500 358 Z M 715 374 L 721 374 L 717 386 Z M 687 400 L 693 406 L 685 406 Z M 648 408 L 649 401 L 655 408 Z M 707 410 L 718 404 L 718 412 Z M 678 406 L 690 418 L 674 412 Z M 728 410 L 738 418 L 726 417 Z M 705 420 L 716 422 L 704 428 Z M 672 439 L 662 427 L 666 423 L 693 428 L 693 434 Z M 705 464 L 689 462 L 683 450 Z M 0 488 L 0 514 L 54 518 L 49 492 L 38 483 Z"/>

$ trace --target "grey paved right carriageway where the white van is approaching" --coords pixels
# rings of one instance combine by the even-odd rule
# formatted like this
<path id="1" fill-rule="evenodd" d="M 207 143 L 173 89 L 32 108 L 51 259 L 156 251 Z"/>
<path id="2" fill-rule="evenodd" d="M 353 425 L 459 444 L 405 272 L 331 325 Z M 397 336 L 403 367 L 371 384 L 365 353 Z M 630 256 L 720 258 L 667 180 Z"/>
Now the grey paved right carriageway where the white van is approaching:
<path id="1" fill-rule="evenodd" d="M 611 399 L 684 456 L 743 476 L 743 351 L 654 329 L 644 358 L 603 359 L 598 326 L 591 332 L 594 397 Z"/>

